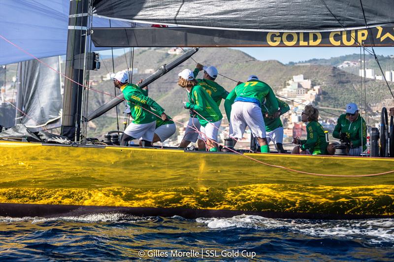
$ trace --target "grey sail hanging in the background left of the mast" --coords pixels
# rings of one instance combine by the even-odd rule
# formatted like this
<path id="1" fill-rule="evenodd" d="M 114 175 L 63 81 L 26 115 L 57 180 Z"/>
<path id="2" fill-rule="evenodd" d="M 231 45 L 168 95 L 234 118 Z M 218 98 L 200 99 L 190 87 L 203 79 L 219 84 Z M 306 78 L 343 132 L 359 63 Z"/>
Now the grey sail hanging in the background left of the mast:
<path id="1" fill-rule="evenodd" d="M 42 60 L 60 71 L 59 57 Z M 18 80 L 16 123 L 34 131 L 60 127 L 63 107 L 60 75 L 33 59 L 18 64 Z"/>

